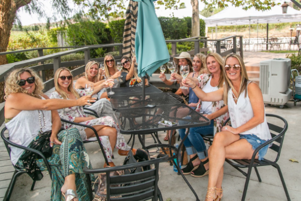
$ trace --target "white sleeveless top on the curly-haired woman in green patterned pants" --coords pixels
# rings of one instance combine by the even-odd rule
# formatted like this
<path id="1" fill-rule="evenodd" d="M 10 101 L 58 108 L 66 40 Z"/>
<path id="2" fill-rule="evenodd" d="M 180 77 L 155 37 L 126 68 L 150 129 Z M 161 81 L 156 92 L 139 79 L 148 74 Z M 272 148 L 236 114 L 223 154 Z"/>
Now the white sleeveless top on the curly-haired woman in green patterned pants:
<path id="1" fill-rule="evenodd" d="M 42 99 L 44 98 L 42 97 Z M 52 129 L 51 111 L 42 112 L 46 123 L 44 127 L 43 114 L 40 110 L 42 128 L 44 127 L 42 132 L 50 131 Z M 22 110 L 5 126 L 9 131 L 10 141 L 27 147 L 40 131 L 39 112 L 38 110 Z M 18 162 L 23 151 L 23 149 L 11 147 L 10 158 L 14 165 Z"/>

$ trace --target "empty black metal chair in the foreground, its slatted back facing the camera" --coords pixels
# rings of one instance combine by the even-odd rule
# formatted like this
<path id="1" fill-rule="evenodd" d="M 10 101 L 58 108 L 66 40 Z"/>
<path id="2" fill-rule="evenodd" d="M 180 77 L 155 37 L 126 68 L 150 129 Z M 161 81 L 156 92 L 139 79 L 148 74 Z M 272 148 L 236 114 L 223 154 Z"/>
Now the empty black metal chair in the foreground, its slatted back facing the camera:
<path id="1" fill-rule="evenodd" d="M 107 201 L 163 201 L 161 192 L 158 188 L 159 180 L 159 163 L 165 162 L 168 159 L 168 155 L 164 157 L 153 159 L 150 161 L 129 164 L 124 166 L 106 167 L 100 169 L 84 169 L 87 177 L 90 178 L 89 174 L 95 173 L 106 173 L 107 182 Z M 142 172 L 110 176 L 112 171 L 120 171 L 126 169 L 134 169 L 137 167 L 144 167 L 154 164 L 154 168 Z M 135 184 L 135 182 L 139 182 Z M 132 184 L 132 185 L 124 185 Z M 113 186 L 111 186 L 113 185 Z M 116 185 L 119 185 L 116 187 Z M 91 186 L 91 185 L 89 185 Z M 90 189 L 89 191 L 92 191 Z M 122 196 L 120 198 L 112 198 L 111 196 Z"/>

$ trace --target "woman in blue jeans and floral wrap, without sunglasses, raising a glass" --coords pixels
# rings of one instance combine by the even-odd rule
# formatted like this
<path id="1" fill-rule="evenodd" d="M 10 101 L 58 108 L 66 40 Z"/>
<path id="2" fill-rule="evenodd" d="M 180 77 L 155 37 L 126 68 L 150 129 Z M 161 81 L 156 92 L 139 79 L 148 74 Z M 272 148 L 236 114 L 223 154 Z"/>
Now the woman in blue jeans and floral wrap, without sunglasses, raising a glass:
<path id="1" fill-rule="evenodd" d="M 194 59 L 194 61 L 196 61 Z M 213 92 L 223 87 L 224 76 L 222 73 L 223 59 L 216 53 L 210 53 L 204 60 L 206 70 L 209 73 L 200 74 L 198 76 L 198 87 L 204 92 Z M 193 77 L 191 77 L 193 78 Z M 177 77 L 181 80 L 181 77 Z M 196 79 L 196 78 L 194 78 Z M 197 86 L 196 86 L 197 88 Z M 183 93 L 188 90 L 183 90 Z M 193 88 L 189 88 L 189 94 L 194 93 Z M 196 96 L 196 95 L 195 95 Z M 183 174 L 190 174 L 193 177 L 203 177 L 209 173 L 208 152 L 204 142 L 203 135 L 212 135 L 221 131 L 223 123 L 229 118 L 227 113 L 228 107 L 224 105 L 224 101 L 198 101 L 197 112 L 204 114 L 211 120 L 209 126 L 195 127 L 189 130 L 188 137 L 184 141 L 184 146 L 189 155 L 190 161 L 186 167 L 182 169 Z M 190 118 L 189 116 L 185 118 Z M 185 136 L 185 129 L 180 129 L 181 138 Z"/>

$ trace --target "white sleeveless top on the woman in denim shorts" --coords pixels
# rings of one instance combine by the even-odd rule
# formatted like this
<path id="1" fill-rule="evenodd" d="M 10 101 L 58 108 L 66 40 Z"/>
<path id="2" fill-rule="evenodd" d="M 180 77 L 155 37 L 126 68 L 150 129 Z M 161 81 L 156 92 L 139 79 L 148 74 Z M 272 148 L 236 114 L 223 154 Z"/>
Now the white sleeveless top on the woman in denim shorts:
<path id="1" fill-rule="evenodd" d="M 251 81 L 248 81 L 247 85 L 249 85 Z M 244 97 L 244 94 L 246 97 Z M 240 97 L 235 103 L 233 96 L 232 96 L 232 89 L 228 91 L 228 110 L 231 119 L 231 125 L 233 128 L 238 128 L 241 125 L 247 123 L 253 116 L 253 109 L 252 105 L 248 96 L 247 88 L 244 92 L 241 92 Z M 242 132 L 240 134 L 255 134 L 260 139 L 268 140 L 271 139 L 271 133 L 268 127 L 266 113 L 265 113 L 265 121 L 253 129 L 248 131 Z"/>

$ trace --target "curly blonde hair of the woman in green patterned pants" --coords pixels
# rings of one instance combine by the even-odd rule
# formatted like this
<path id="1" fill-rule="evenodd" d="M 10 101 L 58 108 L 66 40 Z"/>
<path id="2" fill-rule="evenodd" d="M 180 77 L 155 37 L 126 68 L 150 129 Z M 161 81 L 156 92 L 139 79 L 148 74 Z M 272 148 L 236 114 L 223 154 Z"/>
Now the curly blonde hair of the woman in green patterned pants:
<path id="1" fill-rule="evenodd" d="M 18 85 L 19 81 L 21 80 L 20 75 L 24 72 L 30 73 L 32 77 L 34 77 L 34 84 L 35 88 L 32 93 L 29 93 L 26 89 L 23 89 L 20 85 Z M 32 97 L 41 99 L 43 94 L 44 84 L 38 74 L 32 70 L 31 68 L 18 68 L 12 70 L 5 80 L 5 87 L 4 87 L 4 99 L 6 100 L 7 97 L 11 93 L 25 93 Z"/>

